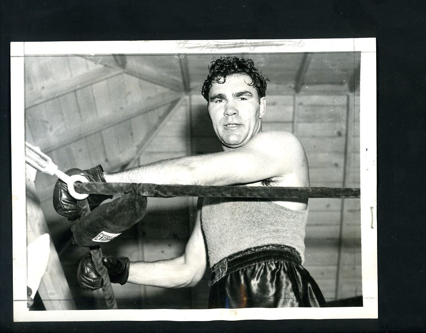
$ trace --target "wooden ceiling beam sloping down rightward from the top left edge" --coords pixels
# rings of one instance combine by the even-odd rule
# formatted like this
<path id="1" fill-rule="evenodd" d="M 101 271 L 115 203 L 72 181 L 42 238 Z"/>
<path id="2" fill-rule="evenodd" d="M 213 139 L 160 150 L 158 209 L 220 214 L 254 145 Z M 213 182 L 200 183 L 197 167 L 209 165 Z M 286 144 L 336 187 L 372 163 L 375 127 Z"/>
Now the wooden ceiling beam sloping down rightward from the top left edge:
<path id="1" fill-rule="evenodd" d="M 91 61 L 95 60 L 93 57 L 89 56 L 83 56 L 83 58 Z M 126 74 L 134 76 L 139 80 L 154 83 L 158 86 L 162 86 L 163 88 L 176 92 L 182 92 L 181 81 L 164 75 L 158 69 L 154 69 L 149 66 L 141 66 L 135 61 L 129 62 L 125 55 L 103 56 L 96 62 L 110 69 L 122 69 Z"/>

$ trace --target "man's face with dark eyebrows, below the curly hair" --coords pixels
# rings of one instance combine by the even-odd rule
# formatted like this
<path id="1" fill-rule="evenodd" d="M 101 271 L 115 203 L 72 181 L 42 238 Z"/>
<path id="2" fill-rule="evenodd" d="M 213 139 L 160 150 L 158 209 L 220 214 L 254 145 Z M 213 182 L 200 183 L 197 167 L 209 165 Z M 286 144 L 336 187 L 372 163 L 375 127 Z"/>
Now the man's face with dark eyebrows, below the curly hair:
<path id="1" fill-rule="evenodd" d="M 265 97 L 249 86 L 248 75 L 228 75 L 225 83 L 213 83 L 209 91 L 208 112 L 217 137 L 227 148 L 246 144 L 261 131 Z M 223 79 L 219 80 L 223 82 Z"/>

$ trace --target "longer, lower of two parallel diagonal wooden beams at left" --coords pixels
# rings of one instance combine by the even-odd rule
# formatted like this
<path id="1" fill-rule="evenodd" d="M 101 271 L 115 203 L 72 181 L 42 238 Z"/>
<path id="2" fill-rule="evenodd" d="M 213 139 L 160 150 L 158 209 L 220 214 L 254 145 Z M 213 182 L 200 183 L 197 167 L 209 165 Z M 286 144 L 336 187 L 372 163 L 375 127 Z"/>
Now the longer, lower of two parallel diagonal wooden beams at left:
<path id="1" fill-rule="evenodd" d="M 106 113 L 99 115 L 92 121 L 84 121 L 83 123 L 75 122 L 69 124 L 70 127 L 66 129 L 68 135 L 61 135 L 55 140 L 55 144 L 52 146 L 52 138 L 43 138 L 40 141 L 34 143 L 40 147 L 41 151 L 46 153 L 52 152 L 56 149 L 68 146 L 76 141 L 86 138 L 90 135 L 94 135 L 105 129 L 109 129 L 120 123 L 128 121 L 132 118 L 138 117 L 144 113 L 154 111 L 161 106 L 173 103 L 178 100 L 181 95 L 171 94 L 170 92 L 162 92 L 156 96 L 156 98 L 145 101 L 145 112 L 141 111 L 139 106 L 130 105 L 126 109 L 122 110 L 121 117 L 117 117 L 116 112 Z"/>

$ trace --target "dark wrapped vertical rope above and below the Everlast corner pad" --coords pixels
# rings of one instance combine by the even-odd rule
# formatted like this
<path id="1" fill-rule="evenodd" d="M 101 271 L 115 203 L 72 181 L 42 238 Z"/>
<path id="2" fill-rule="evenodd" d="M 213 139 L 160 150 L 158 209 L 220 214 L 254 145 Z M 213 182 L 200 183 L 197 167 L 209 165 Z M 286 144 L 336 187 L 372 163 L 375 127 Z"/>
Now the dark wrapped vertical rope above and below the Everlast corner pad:
<path id="1" fill-rule="evenodd" d="M 77 202 L 83 210 L 82 217 L 90 213 L 89 203 L 87 199 L 80 200 Z M 102 277 L 104 283 L 102 284 L 102 293 L 104 293 L 105 302 L 109 310 L 118 309 L 117 301 L 115 301 L 114 291 L 112 290 L 111 281 L 109 280 L 107 267 L 102 263 L 102 250 L 100 246 L 89 247 L 90 254 L 92 255 L 92 261 L 95 265 L 96 271 Z"/>

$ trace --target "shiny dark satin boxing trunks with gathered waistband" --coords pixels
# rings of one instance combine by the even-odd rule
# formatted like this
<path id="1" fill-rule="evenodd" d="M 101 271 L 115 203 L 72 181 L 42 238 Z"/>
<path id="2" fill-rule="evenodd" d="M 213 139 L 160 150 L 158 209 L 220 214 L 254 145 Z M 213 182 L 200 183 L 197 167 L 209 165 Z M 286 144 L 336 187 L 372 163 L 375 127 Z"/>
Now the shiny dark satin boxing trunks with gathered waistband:
<path id="1" fill-rule="evenodd" d="M 210 276 L 210 309 L 326 306 L 293 247 L 264 245 L 234 253 L 214 264 Z"/>

